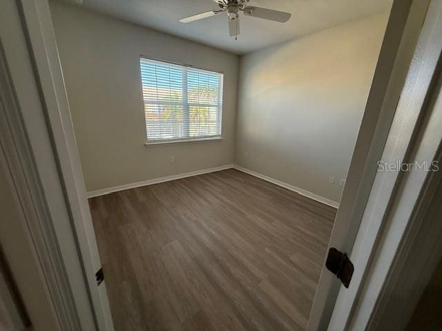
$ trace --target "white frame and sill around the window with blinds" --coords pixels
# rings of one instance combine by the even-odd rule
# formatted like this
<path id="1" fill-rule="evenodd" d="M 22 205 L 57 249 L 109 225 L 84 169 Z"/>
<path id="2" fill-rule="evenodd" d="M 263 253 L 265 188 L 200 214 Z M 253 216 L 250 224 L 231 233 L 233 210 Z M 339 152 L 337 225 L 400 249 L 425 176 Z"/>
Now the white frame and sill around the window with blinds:
<path id="1" fill-rule="evenodd" d="M 200 137 L 188 137 L 188 138 L 175 138 L 175 139 L 147 139 L 147 125 L 146 125 L 146 110 L 145 110 L 145 103 L 144 103 L 144 96 L 143 96 L 143 80 L 142 80 L 142 72 L 141 72 L 141 61 L 142 59 L 146 59 L 146 60 L 151 60 L 151 61 L 157 61 L 160 63 L 166 63 L 166 64 L 172 64 L 174 66 L 181 66 L 184 68 L 192 68 L 192 69 L 196 69 L 196 70 L 204 70 L 207 72 L 213 72 L 216 74 L 221 74 L 222 75 L 222 86 L 221 86 L 221 90 L 222 90 L 222 95 L 220 98 L 221 101 L 221 106 L 220 106 L 220 134 L 216 135 L 216 136 L 200 136 Z M 157 57 L 147 57 L 145 55 L 140 55 L 139 59 L 138 59 L 138 72 L 140 74 L 140 88 L 141 88 L 141 93 L 142 93 L 142 104 L 143 104 L 143 112 L 144 112 L 144 145 L 145 146 L 155 146 L 155 145 L 164 145 L 164 144 L 170 144 L 170 143 L 191 143 L 191 142 L 209 142 L 209 141 L 221 141 L 224 139 L 224 137 L 222 136 L 222 112 L 224 109 L 224 72 L 220 71 L 220 70 L 213 70 L 213 69 L 207 69 L 207 68 L 202 68 L 202 67 L 198 67 L 198 66 L 193 66 L 191 64 L 187 64 L 187 63 L 179 63 L 179 62 L 174 62 L 174 61 L 169 61 L 169 60 L 164 60 L 164 59 L 159 59 Z M 184 88 L 183 88 L 184 90 Z M 183 103 L 184 104 L 184 103 Z M 203 105 L 204 106 L 204 105 Z M 187 107 L 189 108 L 189 102 L 187 103 Z"/>

